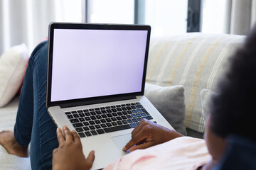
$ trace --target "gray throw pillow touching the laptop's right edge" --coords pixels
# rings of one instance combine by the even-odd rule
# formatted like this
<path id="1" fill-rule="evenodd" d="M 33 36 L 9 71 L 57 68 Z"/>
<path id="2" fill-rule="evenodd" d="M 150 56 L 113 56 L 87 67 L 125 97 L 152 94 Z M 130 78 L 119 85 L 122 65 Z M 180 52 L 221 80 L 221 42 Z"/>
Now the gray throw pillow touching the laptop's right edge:
<path id="1" fill-rule="evenodd" d="M 162 87 L 146 84 L 144 95 L 177 132 L 186 135 L 183 86 Z"/>

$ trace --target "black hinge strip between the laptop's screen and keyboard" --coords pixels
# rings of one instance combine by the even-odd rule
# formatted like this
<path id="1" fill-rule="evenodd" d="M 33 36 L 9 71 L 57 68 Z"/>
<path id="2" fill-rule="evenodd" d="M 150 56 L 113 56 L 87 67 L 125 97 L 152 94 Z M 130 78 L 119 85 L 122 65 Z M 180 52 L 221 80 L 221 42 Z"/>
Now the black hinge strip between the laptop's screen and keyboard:
<path id="1" fill-rule="evenodd" d="M 98 103 L 107 103 L 107 102 L 113 102 L 113 101 L 125 101 L 125 100 L 131 100 L 136 99 L 136 96 L 124 96 L 124 97 L 118 97 L 118 98 L 105 98 L 105 99 L 97 99 L 97 100 L 90 100 L 90 101 L 77 101 L 73 103 L 63 103 L 60 104 L 60 108 L 70 108 L 70 107 L 76 107 L 76 106 L 85 106 L 90 104 L 98 104 Z"/>

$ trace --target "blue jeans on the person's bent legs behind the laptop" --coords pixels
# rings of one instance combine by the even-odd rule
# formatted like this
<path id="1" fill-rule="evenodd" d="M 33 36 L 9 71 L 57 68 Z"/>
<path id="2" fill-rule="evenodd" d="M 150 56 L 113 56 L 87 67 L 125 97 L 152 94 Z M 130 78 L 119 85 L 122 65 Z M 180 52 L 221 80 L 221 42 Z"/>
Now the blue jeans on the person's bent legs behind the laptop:
<path id="1" fill-rule="evenodd" d="M 23 80 L 14 137 L 18 144 L 31 143 L 32 169 L 52 169 L 53 149 L 58 147 L 56 126 L 46 108 L 48 41 L 33 50 Z"/>

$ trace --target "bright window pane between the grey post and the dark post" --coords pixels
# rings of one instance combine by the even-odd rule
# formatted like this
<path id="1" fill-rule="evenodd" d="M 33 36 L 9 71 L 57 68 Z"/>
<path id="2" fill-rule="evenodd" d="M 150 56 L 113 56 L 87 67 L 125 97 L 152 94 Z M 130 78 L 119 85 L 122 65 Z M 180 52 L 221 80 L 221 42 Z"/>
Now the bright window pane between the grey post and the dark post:
<path id="1" fill-rule="evenodd" d="M 146 0 L 145 23 L 151 26 L 151 35 L 186 33 L 187 6 L 187 0 Z"/>

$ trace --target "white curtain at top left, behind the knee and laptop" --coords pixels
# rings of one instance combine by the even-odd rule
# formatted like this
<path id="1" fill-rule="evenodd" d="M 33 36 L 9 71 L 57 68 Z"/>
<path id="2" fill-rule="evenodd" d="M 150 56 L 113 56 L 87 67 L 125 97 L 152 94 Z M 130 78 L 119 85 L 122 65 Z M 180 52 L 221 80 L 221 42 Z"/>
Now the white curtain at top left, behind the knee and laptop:
<path id="1" fill-rule="evenodd" d="M 0 0 L 0 55 L 24 42 L 30 52 L 50 22 L 81 22 L 81 0 Z"/>

